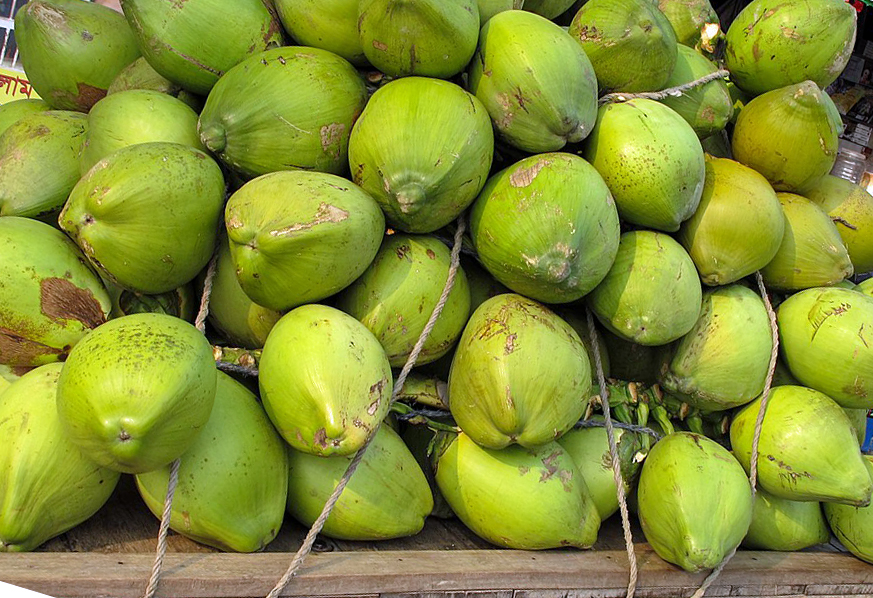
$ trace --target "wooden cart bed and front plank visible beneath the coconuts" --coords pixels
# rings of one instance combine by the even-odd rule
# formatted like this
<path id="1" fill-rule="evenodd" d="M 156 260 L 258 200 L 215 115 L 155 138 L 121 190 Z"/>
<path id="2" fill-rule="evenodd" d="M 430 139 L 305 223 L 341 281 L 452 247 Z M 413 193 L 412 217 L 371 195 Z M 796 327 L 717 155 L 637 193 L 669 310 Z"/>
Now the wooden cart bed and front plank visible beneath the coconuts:
<path id="1" fill-rule="evenodd" d="M 92 519 L 29 554 L 0 554 L 0 580 L 57 598 L 137 598 L 154 561 L 158 520 L 125 478 Z M 160 598 L 266 596 L 306 528 L 288 518 L 263 552 L 228 554 L 171 533 Z M 634 528 L 638 598 L 690 596 L 707 572 L 659 558 Z M 430 517 L 414 537 L 319 539 L 286 596 L 362 598 L 623 597 L 628 562 L 620 523 L 605 522 L 592 550 L 494 548 L 457 520 Z M 873 596 L 873 566 L 825 544 L 796 553 L 740 551 L 707 596 Z"/>

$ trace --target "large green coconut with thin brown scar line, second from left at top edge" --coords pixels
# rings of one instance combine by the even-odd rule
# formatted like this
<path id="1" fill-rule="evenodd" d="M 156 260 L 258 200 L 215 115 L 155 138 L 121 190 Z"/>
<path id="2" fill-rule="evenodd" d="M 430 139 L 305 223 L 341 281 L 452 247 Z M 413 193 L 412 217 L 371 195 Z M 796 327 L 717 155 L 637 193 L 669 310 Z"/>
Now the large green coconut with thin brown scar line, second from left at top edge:
<path id="1" fill-rule="evenodd" d="M 121 8 L 152 68 L 204 96 L 233 66 L 283 42 L 262 0 L 121 0 Z"/>

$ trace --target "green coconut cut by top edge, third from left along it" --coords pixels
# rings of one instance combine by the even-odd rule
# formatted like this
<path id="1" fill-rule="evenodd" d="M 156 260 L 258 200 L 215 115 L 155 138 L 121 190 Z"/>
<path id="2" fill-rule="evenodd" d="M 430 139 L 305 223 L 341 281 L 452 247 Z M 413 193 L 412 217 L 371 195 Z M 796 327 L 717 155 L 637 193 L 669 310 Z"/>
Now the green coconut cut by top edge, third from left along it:
<path id="1" fill-rule="evenodd" d="M 300 45 L 328 50 L 355 66 L 368 64 L 358 34 L 358 0 L 274 0 L 273 5 Z"/>

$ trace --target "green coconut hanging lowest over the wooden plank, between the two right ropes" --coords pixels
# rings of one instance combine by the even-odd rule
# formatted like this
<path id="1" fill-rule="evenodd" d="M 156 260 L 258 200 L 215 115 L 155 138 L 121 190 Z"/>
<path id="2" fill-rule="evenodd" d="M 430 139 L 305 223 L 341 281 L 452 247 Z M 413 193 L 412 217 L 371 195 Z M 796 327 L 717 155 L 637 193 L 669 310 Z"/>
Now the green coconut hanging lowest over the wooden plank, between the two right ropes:
<path id="1" fill-rule="evenodd" d="M 643 462 L 638 515 L 646 540 L 689 572 L 712 569 L 739 546 L 752 520 L 752 489 L 739 462 L 714 440 L 675 432 Z"/>

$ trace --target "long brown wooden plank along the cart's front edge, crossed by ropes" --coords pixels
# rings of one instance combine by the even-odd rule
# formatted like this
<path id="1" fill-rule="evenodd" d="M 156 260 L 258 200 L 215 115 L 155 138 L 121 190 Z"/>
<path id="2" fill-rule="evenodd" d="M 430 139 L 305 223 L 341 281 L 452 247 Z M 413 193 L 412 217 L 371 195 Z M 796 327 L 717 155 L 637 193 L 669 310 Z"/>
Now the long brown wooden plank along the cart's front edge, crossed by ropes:
<path id="1" fill-rule="evenodd" d="M 638 548 L 643 596 L 687 596 L 706 576 L 686 573 Z M 172 553 L 165 560 L 162 598 L 263 597 L 284 573 L 283 553 Z M 0 580 L 52 596 L 139 597 L 151 554 L 0 554 Z M 363 551 L 312 554 L 287 596 L 414 594 L 501 590 L 575 590 L 615 595 L 627 585 L 619 551 L 555 550 Z M 804 585 L 806 595 L 873 595 L 873 567 L 837 553 L 738 553 L 711 594 L 736 594 L 754 583 L 760 595 Z M 763 591 L 767 587 L 772 590 Z M 600 592 L 599 594 L 597 592 Z M 441 593 L 441 594 L 440 594 Z M 518 595 L 518 593 L 516 593 Z M 569 596 L 570 594 L 568 594 Z M 784 594 L 783 594 L 784 595 Z"/>

